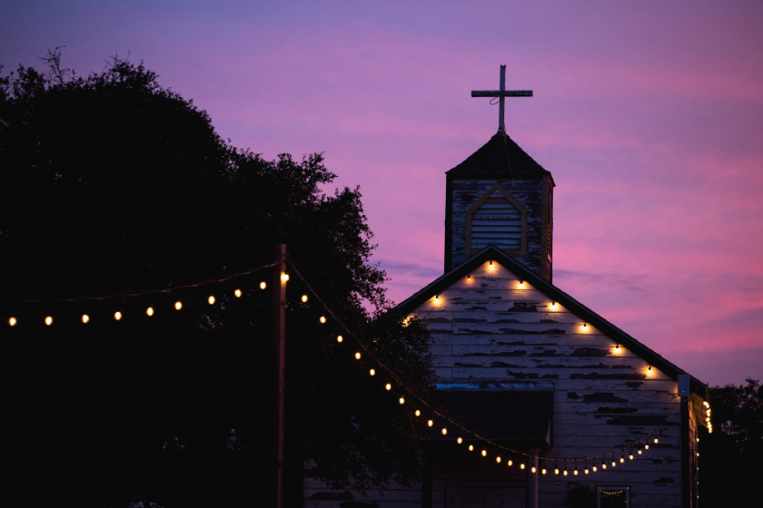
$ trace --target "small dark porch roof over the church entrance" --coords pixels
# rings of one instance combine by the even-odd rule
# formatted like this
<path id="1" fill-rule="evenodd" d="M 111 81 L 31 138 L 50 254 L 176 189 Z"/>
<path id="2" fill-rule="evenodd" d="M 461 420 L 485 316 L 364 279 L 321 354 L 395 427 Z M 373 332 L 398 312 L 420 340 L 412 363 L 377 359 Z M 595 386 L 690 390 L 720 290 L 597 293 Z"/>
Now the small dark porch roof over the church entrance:
<path id="1" fill-rule="evenodd" d="M 454 422 L 485 439 L 513 441 L 520 446 L 550 445 L 553 390 L 438 390 L 437 395 Z M 444 425 L 450 427 L 450 433 L 442 435 L 441 428 L 434 428 L 432 439 L 452 441 L 458 435 L 473 439 L 451 424 Z"/>

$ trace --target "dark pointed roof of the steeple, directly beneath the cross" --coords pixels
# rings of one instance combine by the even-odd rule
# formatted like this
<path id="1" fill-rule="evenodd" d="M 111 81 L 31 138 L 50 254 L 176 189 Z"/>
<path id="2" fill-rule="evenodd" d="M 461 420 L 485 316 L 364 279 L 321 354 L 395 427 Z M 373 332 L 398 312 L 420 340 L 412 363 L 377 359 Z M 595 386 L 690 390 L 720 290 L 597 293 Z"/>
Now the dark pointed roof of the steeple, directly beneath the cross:
<path id="1" fill-rule="evenodd" d="M 506 163 L 508 154 L 509 165 Z M 520 146 L 513 142 L 511 138 L 501 132 L 496 133 L 486 142 L 482 148 L 472 153 L 466 161 L 447 174 L 467 176 L 470 173 L 512 173 L 523 175 L 536 175 L 538 177 L 550 174 L 544 170 L 540 164 L 532 160 Z M 465 173 L 465 174 L 462 174 Z"/>

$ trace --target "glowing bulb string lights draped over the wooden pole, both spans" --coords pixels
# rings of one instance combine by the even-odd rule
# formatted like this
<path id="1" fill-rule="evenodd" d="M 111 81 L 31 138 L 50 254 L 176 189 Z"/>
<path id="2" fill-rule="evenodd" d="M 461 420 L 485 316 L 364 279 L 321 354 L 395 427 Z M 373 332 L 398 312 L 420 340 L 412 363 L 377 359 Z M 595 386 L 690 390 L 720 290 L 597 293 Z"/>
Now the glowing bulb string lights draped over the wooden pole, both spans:
<path id="1" fill-rule="evenodd" d="M 259 270 L 272 268 L 273 266 L 277 265 L 279 262 L 280 261 L 274 261 L 274 262 L 267 263 L 267 264 L 264 264 L 264 265 L 260 265 L 258 267 L 254 267 L 254 268 L 251 268 L 251 269 L 244 269 L 244 270 L 241 270 L 241 271 L 238 271 L 238 272 L 235 272 L 233 274 L 229 274 L 229 275 L 226 275 L 226 276 L 223 276 L 223 277 L 206 278 L 206 279 L 203 279 L 203 280 L 197 280 L 197 281 L 193 281 L 193 282 L 177 285 L 177 286 L 174 286 L 173 288 L 154 288 L 154 289 L 146 289 L 146 290 L 143 290 L 143 291 L 113 293 L 113 294 L 110 294 L 110 295 L 97 296 L 97 297 L 39 298 L 39 299 L 15 300 L 15 301 L 23 301 L 23 302 L 26 302 L 26 303 L 46 302 L 46 301 L 67 301 L 67 302 L 70 302 L 70 301 L 87 300 L 87 299 L 91 299 L 91 300 L 104 300 L 104 299 L 108 299 L 108 298 L 138 297 L 138 296 L 144 296 L 144 295 L 152 294 L 152 293 L 167 293 L 167 292 L 170 292 L 170 291 L 173 291 L 173 290 L 177 290 L 177 289 L 182 289 L 182 288 L 197 288 L 197 287 L 200 287 L 200 286 L 203 286 L 203 285 L 207 285 L 207 284 L 223 282 L 223 281 L 229 280 L 231 278 L 236 278 L 236 277 L 240 277 L 240 276 L 243 276 L 243 275 L 249 275 L 249 274 L 252 274 L 252 273 L 254 273 L 256 271 L 259 271 Z M 648 435 L 643 435 L 643 436 L 639 437 L 639 439 L 634 441 L 633 443 L 631 443 L 629 445 L 622 446 L 622 447 L 620 447 L 618 449 L 615 449 L 615 450 L 613 450 L 611 452 L 608 452 L 606 454 L 599 454 L 599 455 L 587 456 L 587 457 L 551 457 L 551 456 L 542 456 L 541 454 L 530 454 L 530 453 L 527 453 L 527 452 L 525 452 L 523 450 L 518 450 L 518 449 L 515 449 L 515 448 L 511 448 L 511 447 L 505 446 L 505 445 L 501 445 L 499 443 L 495 443 L 495 442 L 491 441 L 489 438 L 484 437 L 482 435 L 479 435 L 476 432 L 472 431 L 471 429 L 467 428 L 466 426 L 461 425 L 459 422 L 453 420 L 450 415 L 446 415 L 446 414 L 441 413 L 433 405 L 431 405 L 427 400 L 425 400 L 423 397 L 419 396 L 419 394 L 417 394 L 414 390 L 412 390 L 411 387 L 406 386 L 406 384 L 402 382 L 401 376 L 398 376 L 390 366 L 387 366 L 383 361 L 381 361 L 381 358 L 377 357 L 374 354 L 373 350 L 370 347 L 367 347 L 365 342 L 360 337 L 358 337 L 352 331 L 352 329 L 350 329 L 350 327 L 347 327 L 345 325 L 345 323 L 342 321 L 342 319 L 339 318 L 339 316 L 337 316 L 337 314 L 325 302 L 325 300 L 323 300 L 323 298 L 321 298 L 321 296 L 312 288 L 312 286 L 310 285 L 309 281 L 304 276 L 302 276 L 302 273 L 299 271 L 299 269 L 297 269 L 294 266 L 292 261 L 291 260 L 287 260 L 287 263 L 291 267 L 293 273 L 296 274 L 299 278 L 302 279 L 302 282 L 304 283 L 305 287 L 312 293 L 314 298 L 316 300 L 318 300 L 318 302 L 322 305 L 322 308 L 324 309 L 324 314 L 322 314 L 320 316 L 319 322 L 321 324 L 326 324 L 328 322 L 328 319 L 326 318 L 326 314 L 328 314 L 332 318 L 332 320 L 335 321 L 339 325 L 339 327 L 342 328 L 342 330 L 344 331 L 344 334 L 346 334 L 347 337 L 352 337 L 352 339 L 355 340 L 355 342 L 357 344 L 357 347 L 358 347 L 358 350 L 356 350 L 353 353 L 353 355 L 352 355 L 355 358 L 355 360 L 361 360 L 362 358 L 366 358 L 366 357 L 371 359 L 372 363 L 374 364 L 374 366 L 376 366 L 376 368 L 370 368 L 369 369 L 368 373 L 369 373 L 370 376 L 376 376 L 376 374 L 377 374 L 376 369 L 377 368 L 385 371 L 386 375 L 389 376 L 389 378 L 391 379 L 392 382 L 384 384 L 384 389 L 386 391 L 392 392 L 392 388 L 393 388 L 392 383 L 394 383 L 395 386 L 398 386 L 401 389 L 401 391 L 402 391 L 402 394 L 400 394 L 400 396 L 398 398 L 399 404 L 401 404 L 401 405 L 405 404 L 406 403 L 406 397 L 410 397 L 411 400 L 418 401 L 419 405 L 421 405 L 421 409 L 415 409 L 413 411 L 413 415 L 415 415 L 416 417 L 423 416 L 423 418 L 426 419 L 426 424 L 428 426 L 430 426 L 430 427 L 434 426 L 434 420 L 435 419 L 438 419 L 438 420 L 441 420 L 442 422 L 445 422 L 446 424 L 444 426 L 442 426 L 442 428 L 441 428 L 441 434 L 442 435 L 448 435 L 449 432 L 451 432 L 451 434 L 452 434 L 453 429 L 454 428 L 457 429 L 456 433 L 457 434 L 461 434 L 461 435 L 458 435 L 455 438 L 455 441 L 456 441 L 456 443 L 458 445 L 461 445 L 461 444 L 464 443 L 464 441 L 465 441 L 464 440 L 464 436 L 470 436 L 471 440 L 476 440 L 476 441 L 481 442 L 483 444 L 482 450 L 481 450 L 481 455 L 483 457 L 487 457 L 489 455 L 489 453 L 488 453 L 486 448 L 487 447 L 492 447 L 492 448 L 495 448 L 495 449 L 497 449 L 499 451 L 505 451 L 505 452 L 509 452 L 511 454 L 518 454 L 518 455 L 524 457 L 522 462 L 520 462 L 520 468 L 521 469 L 525 469 L 525 467 L 526 467 L 525 462 L 526 462 L 526 460 L 529 459 L 531 464 L 538 464 L 538 465 L 540 465 L 540 461 L 543 461 L 543 464 L 548 464 L 549 461 L 553 462 L 554 463 L 554 474 L 560 474 L 560 471 L 561 471 L 561 474 L 567 475 L 568 471 L 570 471 L 567 468 L 568 461 L 574 462 L 574 464 L 575 464 L 575 468 L 571 470 L 572 474 L 579 474 L 578 461 L 580 461 L 580 462 L 582 462 L 584 464 L 584 469 L 583 469 L 584 474 L 589 474 L 590 471 L 597 472 L 599 470 L 599 467 L 600 467 L 601 470 L 606 470 L 607 469 L 607 463 L 609 462 L 607 457 L 609 455 L 611 455 L 611 457 L 612 457 L 611 467 L 615 467 L 617 464 L 624 464 L 625 463 L 625 456 L 626 456 L 625 452 L 626 451 L 629 452 L 629 454 L 628 454 L 629 460 L 633 460 L 634 459 L 634 451 L 636 452 L 636 454 L 640 455 L 640 454 L 643 453 L 643 451 L 649 450 L 649 443 L 651 442 L 652 439 L 654 441 L 654 444 L 658 444 L 659 443 L 659 436 L 662 435 L 662 430 L 661 430 L 662 429 L 662 425 L 664 425 L 669 420 L 669 418 L 671 418 L 673 415 L 675 415 L 676 412 L 678 412 L 682 408 L 682 405 L 684 404 L 682 402 L 671 414 L 666 416 L 662 420 L 662 422 L 655 427 L 655 430 L 654 430 L 653 433 L 648 434 Z M 288 281 L 289 280 L 289 275 L 287 273 L 282 273 L 281 277 L 282 277 L 283 281 Z M 266 285 L 266 283 L 264 281 L 260 283 L 260 288 L 261 289 L 264 289 L 266 287 L 267 287 L 267 285 Z M 234 294 L 234 296 L 236 298 L 240 298 L 242 296 L 242 291 L 240 289 L 235 289 L 233 294 Z M 307 302 L 308 297 L 307 297 L 307 295 L 302 295 L 301 299 L 302 299 L 302 302 L 305 303 L 305 302 Z M 435 297 L 435 299 L 437 299 L 437 297 Z M 7 301 L 7 300 L 4 300 L 4 301 Z M 214 296 L 210 295 L 209 298 L 207 298 L 207 301 L 208 301 L 208 303 L 210 305 L 213 305 L 215 303 Z M 180 309 L 183 308 L 183 304 L 182 304 L 182 302 L 180 300 L 178 300 L 178 301 L 176 301 L 174 303 L 173 307 L 175 309 L 177 309 L 177 310 L 180 310 Z M 151 307 L 147 308 L 145 313 L 148 316 L 153 316 L 154 315 L 154 308 L 151 308 Z M 119 320 L 122 319 L 122 317 L 123 316 L 122 316 L 122 313 L 120 311 L 114 312 L 114 319 L 115 320 L 119 321 Z M 90 320 L 90 318 L 89 318 L 89 316 L 87 314 L 84 314 L 82 316 L 82 322 L 83 323 L 87 323 L 89 320 Z M 53 317 L 51 317 L 51 316 L 45 317 L 45 324 L 46 325 L 50 326 L 50 325 L 52 325 L 52 323 L 53 323 Z M 14 318 L 14 317 L 9 318 L 8 324 L 11 327 L 14 327 L 17 324 L 16 318 Z M 342 337 L 342 335 L 338 335 L 336 337 L 336 340 L 337 340 L 338 343 L 342 343 L 344 341 L 344 337 Z M 395 390 L 395 391 L 398 392 L 398 390 Z M 712 423 L 710 422 L 710 408 L 709 408 L 708 402 L 704 402 L 703 404 L 705 406 L 705 408 L 703 410 L 706 413 L 706 424 L 708 425 L 708 431 L 711 433 L 712 432 Z M 422 412 L 422 409 L 423 409 L 423 412 Z M 424 415 L 425 412 L 429 413 L 429 416 Z M 450 429 L 449 429 L 449 425 L 451 425 Z M 474 449 L 475 449 L 474 444 L 468 445 L 468 450 L 469 451 L 474 451 Z M 617 454 L 620 454 L 619 460 L 617 458 Z M 495 455 L 495 462 L 496 462 L 496 464 L 500 464 L 502 462 L 500 454 L 496 454 Z M 589 462 L 592 464 L 590 469 L 588 467 Z M 598 462 L 599 465 L 597 465 L 597 462 Z M 559 468 L 559 464 L 560 463 L 563 464 L 563 469 L 561 469 L 561 470 Z M 513 461 L 512 460 L 507 460 L 507 461 L 505 461 L 505 464 L 512 465 Z M 532 473 L 536 473 L 537 468 L 536 468 L 535 465 L 531 465 L 531 471 L 532 471 Z M 541 474 L 546 474 L 546 472 L 547 472 L 547 468 L 546 467 L 542 467 L 541 468 Z"/>

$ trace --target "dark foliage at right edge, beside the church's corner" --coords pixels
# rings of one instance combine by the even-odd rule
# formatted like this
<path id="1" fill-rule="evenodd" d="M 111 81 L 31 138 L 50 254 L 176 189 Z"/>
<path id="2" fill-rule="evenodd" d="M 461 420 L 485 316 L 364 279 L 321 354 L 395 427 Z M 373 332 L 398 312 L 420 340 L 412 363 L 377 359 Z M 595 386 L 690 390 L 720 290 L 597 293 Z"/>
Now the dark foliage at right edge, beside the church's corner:
<path id="1" fill-rule="evenodd" d="M 711 388 L 714 432 L 700 428 L 699 501 L 707 506 L 747 506 L 757 495 L 763 454 L 763 388 L 746 385 Z"/>

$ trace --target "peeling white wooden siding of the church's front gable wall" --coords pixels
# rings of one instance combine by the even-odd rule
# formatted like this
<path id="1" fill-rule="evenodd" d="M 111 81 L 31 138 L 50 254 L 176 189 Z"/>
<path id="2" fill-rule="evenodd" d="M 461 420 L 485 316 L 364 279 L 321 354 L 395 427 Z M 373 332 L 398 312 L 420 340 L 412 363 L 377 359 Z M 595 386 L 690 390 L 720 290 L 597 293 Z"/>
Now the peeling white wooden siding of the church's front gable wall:
<path id="1" fill-rule="evenodd" d="M 485 263 L 471 273 L 471 279 L 461 279 L 437 297 L 414 314 L 431 329 L 431 351 L 440 383 L 553 384 L 553 447 L 546 456 L 609 453 L 651 433 L 670 415 L 659 444 L 649 443 L 649 451 L 635 454 L 632 461 L 626 455 L 626 464 L 618 463 L 614 469 L 609 466 L 596 474 L 557 476 L 547 463 L 551 474 L 540 475 L 540 506 L 567 506 L 573 484 L 589 484 L 593 490 L 598 485 L 629 485 L 634 506 L 681 505 L 681 416 L 675 381 L 656 367 L 649 371 L 644 360 L 498 263 L 492 268 Z M 432 483 L 433 506 L 446 506 L 448 483 L 454 480 L 509 482 L 524 474 L 517 467 L 488 459 L 484 465 L 461 469 L 438 464 Z M 305 505 L 317 508 L 343 503 L 315 497 L 327 492 L 308 479 Z M 350 495 L 354 503 L 378 504 L 380 508 L 421 505 L 419 487 L 392 485 L 386 491 Z"/>

